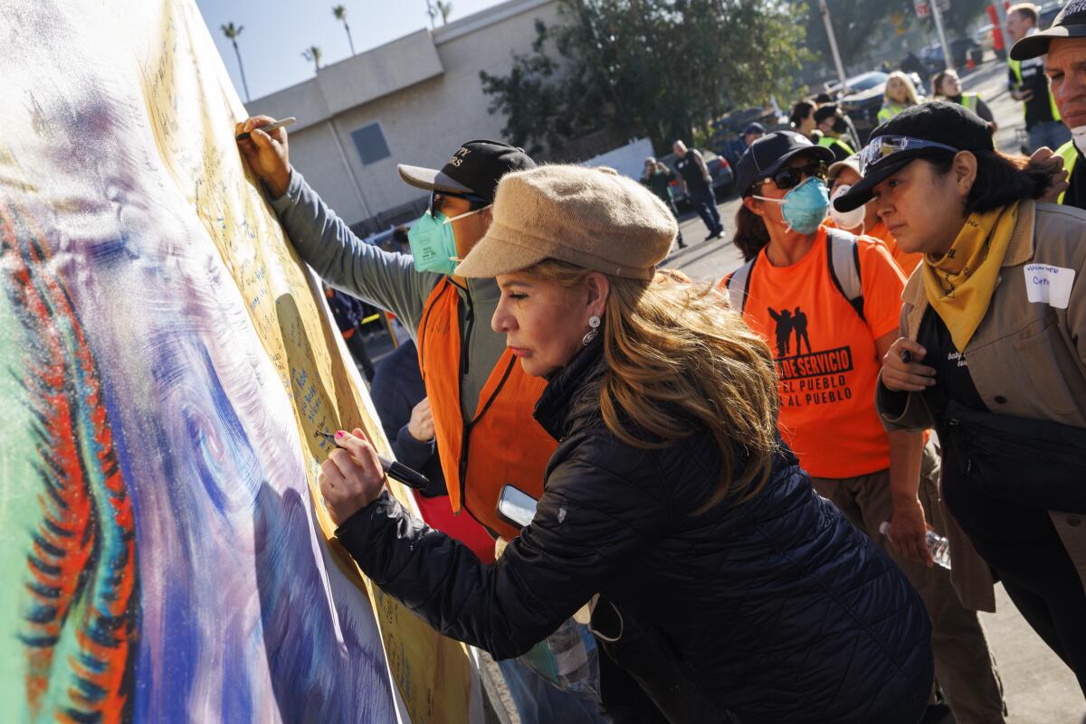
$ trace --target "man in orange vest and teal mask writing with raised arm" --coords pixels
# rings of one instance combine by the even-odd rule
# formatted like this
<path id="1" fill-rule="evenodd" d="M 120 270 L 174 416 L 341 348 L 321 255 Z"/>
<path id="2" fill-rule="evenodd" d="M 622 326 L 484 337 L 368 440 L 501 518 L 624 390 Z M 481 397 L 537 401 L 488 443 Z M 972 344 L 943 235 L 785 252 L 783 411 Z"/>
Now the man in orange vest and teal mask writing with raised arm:
<path id="1" fill-rule="evenodd" d="M 429 192 L 426 214 L 408 232 L 412 256 L 365 244 L 293 169 L 287 131 L 258 130 L 256 116 L 238 124 L 242 157 L 263 183 L 302 259 L 330 286 L 388 310 L 419 348 L 434 439 L 454 513 L 467 509 L 493 538 L 520 533 L 497 515 L 502 488 L 543 494 L 543 473 L 556 443 L 532 418 L 545 380 L 528 377 L 490 328 L 501 293 L 492 279 L 453 276 L 490 227 L 490 207 L 505 173 L 534 168 L 521 148 L 468 141 L 440 169 L 397 166 L 406 183 Z M 462 516 L 463 517 L 463 516 Z M 447 531 L 456 536 L 456 531 Z M 470 545 L 468 539 L 464 539 Z M 492 545 L 472 551 L 493 561 Z M 501 662 L 522 722 L 604 721 L 594 702 L 547 684 L 517 659 Z"/>

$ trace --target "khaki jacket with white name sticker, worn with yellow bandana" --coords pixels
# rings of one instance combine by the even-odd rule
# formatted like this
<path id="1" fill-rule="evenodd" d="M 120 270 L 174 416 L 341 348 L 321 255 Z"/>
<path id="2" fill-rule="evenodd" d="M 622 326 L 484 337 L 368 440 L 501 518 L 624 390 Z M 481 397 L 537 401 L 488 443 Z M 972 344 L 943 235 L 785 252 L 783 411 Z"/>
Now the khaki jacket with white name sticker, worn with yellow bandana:
<path id="1" fill-rule="evenodd" d="M 1037 288 L 1030 264 L 1075 270 L 1065 308 L 1030 301 Z M 901 296 L 901 336 L 917 338 L 927 309 L 918 269 Z M 988 312 L 962 354 L 988 410 L 1086 427 L 1086 211 L 1069 206 L 1021 202 L 1007 257 Z M 934 419 L 923 398 L 901 396 L 880 384 L 876 408 L 887 430 L 921 430 Z M 1083 473 L 1086 484 L 1086 470 Z M 988 567 L 980 561 L 964 532 L 946 512 L 951 580 L 962 603 L 995 610 Z M 1049 510 L 1056 530 L 1086 589 L 1086 516 Z"/>

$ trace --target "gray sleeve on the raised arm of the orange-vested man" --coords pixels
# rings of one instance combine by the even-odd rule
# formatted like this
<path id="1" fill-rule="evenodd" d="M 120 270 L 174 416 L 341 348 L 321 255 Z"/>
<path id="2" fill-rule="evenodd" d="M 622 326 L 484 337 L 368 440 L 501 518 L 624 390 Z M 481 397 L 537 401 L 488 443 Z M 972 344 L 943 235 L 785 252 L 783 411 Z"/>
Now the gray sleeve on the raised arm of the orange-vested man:
<path id="1" fill-rule="evenodd" d="M 302 260 L 325 282 L 392 312 L 415 336 L 440 274 L 416 271 L 409 256 L 364 243 L 296 170 L 272 207 Z"/>

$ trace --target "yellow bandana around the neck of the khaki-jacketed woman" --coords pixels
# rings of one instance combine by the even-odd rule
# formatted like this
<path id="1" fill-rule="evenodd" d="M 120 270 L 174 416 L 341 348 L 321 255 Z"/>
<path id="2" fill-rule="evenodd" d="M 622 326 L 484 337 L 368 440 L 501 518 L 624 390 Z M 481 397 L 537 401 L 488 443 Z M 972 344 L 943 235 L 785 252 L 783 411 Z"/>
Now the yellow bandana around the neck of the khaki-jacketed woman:
<path id="1" fill-rule="evenodd" d="M 1018 204 L 971 214 L 944 256 L 924 255 L 924 292 L 947 325 L 958 351 L 964 351 L 988 312 L 999 268 L 1007 256 Z"/>

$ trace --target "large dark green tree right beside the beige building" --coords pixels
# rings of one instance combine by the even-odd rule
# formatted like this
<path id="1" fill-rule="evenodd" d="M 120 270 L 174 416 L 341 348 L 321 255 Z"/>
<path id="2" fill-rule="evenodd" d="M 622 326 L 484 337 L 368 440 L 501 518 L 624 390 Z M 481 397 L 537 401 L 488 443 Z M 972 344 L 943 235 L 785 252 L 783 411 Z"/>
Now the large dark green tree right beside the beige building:
<path id="1" fill-rule="evenodd" d="M 791 90 L 805 2 L 559 0 L 506 76 L 481 72 L 505 135 L 536 152 L 596 130 L 647 135 L 658 152 L 737 105 Z"/>

